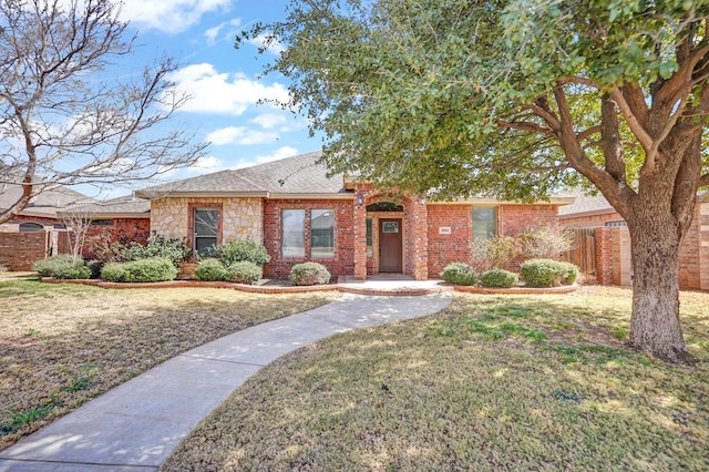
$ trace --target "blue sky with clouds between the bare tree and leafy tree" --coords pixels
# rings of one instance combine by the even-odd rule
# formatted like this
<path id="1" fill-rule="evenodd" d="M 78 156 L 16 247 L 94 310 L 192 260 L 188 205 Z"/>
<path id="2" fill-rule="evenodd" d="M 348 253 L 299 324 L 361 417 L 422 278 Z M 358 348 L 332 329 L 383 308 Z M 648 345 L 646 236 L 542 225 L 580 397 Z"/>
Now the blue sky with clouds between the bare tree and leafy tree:
<path id="1" fill-rule="evenodd" d="M 172 172 L 168 179 L 315 151 L 319 138 L 308 137 L 307 122 L 260 99 L 287 99 L 282 76 L 259 79 L 264 64 L 278 51 L 257 53 L 258 44 L 234 49 L 235 34 L 249 24 L 285 18 L 286 0 L 124 0 L 123 17 L 138 32 L 136 53 L 129 59 L 137 72 L 161 55 L 179 69 L 171 78 L 193 99 L 171 125 L 196 132 L 212 142 L 196 165 Z M 148 183 L 141 183 L 146 186 Z M 124 194 L 115 189 L 111 195 Z"/>

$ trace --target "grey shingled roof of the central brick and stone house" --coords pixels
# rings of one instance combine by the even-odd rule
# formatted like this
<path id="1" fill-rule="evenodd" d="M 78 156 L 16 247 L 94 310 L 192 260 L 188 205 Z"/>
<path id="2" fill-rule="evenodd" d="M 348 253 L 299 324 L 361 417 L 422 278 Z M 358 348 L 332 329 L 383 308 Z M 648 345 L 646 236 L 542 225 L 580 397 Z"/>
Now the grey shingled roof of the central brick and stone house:
<path id="1" fill-rule="evenodd" d="M 320 152 L 300 154 L 251 167 L 222 171 L 138 191 L 143 198 L 169 196 L 297 197 L 347 194 L 342 175 L 328 177 L 316 163 Z"/>

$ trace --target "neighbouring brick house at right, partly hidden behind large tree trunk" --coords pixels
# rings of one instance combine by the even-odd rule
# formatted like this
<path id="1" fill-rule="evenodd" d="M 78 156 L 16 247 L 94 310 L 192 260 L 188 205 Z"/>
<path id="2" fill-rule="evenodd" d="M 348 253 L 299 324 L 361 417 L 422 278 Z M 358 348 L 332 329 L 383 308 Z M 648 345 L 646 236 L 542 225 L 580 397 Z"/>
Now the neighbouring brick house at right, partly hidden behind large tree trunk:
<path id="1" fill-rule="evenodd" d="M 558 218 L 567 228 L 596 229 L 599 284 L 631 284 L 630 235 L 625 220 L 606 198 L 579 194 L 573 205 L 559 208 Z M 695 218 L 680 248 L 679 286 L 709 290 L 709 192 L 698 195 Z"/>

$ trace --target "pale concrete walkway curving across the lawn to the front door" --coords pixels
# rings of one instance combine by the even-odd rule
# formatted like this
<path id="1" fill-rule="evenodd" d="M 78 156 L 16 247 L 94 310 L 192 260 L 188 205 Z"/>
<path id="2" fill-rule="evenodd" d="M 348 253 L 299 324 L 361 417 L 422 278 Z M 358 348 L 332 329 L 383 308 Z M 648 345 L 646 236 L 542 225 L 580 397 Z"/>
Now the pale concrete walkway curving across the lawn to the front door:
<path id="1" fill-rule="evenodd" d="M 209 412 L 278 357 L 325 337 L 434 314 L 450 294 L 343 294 L 187 351 L 0 451 L 0 471 L 153 471 Z"/>

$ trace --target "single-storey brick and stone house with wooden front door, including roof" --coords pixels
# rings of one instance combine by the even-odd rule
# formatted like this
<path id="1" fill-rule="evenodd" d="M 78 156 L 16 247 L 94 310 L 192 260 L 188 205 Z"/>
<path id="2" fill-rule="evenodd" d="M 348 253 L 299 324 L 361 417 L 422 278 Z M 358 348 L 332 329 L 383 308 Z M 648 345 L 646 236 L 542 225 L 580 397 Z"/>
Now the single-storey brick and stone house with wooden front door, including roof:
<path id="1" fill-rule="evenodd" d="M 467 260 L 474 237 L 514 235 L 556 223 L 573 198 L 522 205 L 489 198 L 432 202 L 387 194 L 343 175 L 328 176 L 320 153 L 148 187 L 151 229 L 187 238 L 197 252 L 250 238 L 271 260 L 265 275 L 286 277 L 301 261 L 333 276 L 379 273 L 435 278 L 451 261 Z"/>

